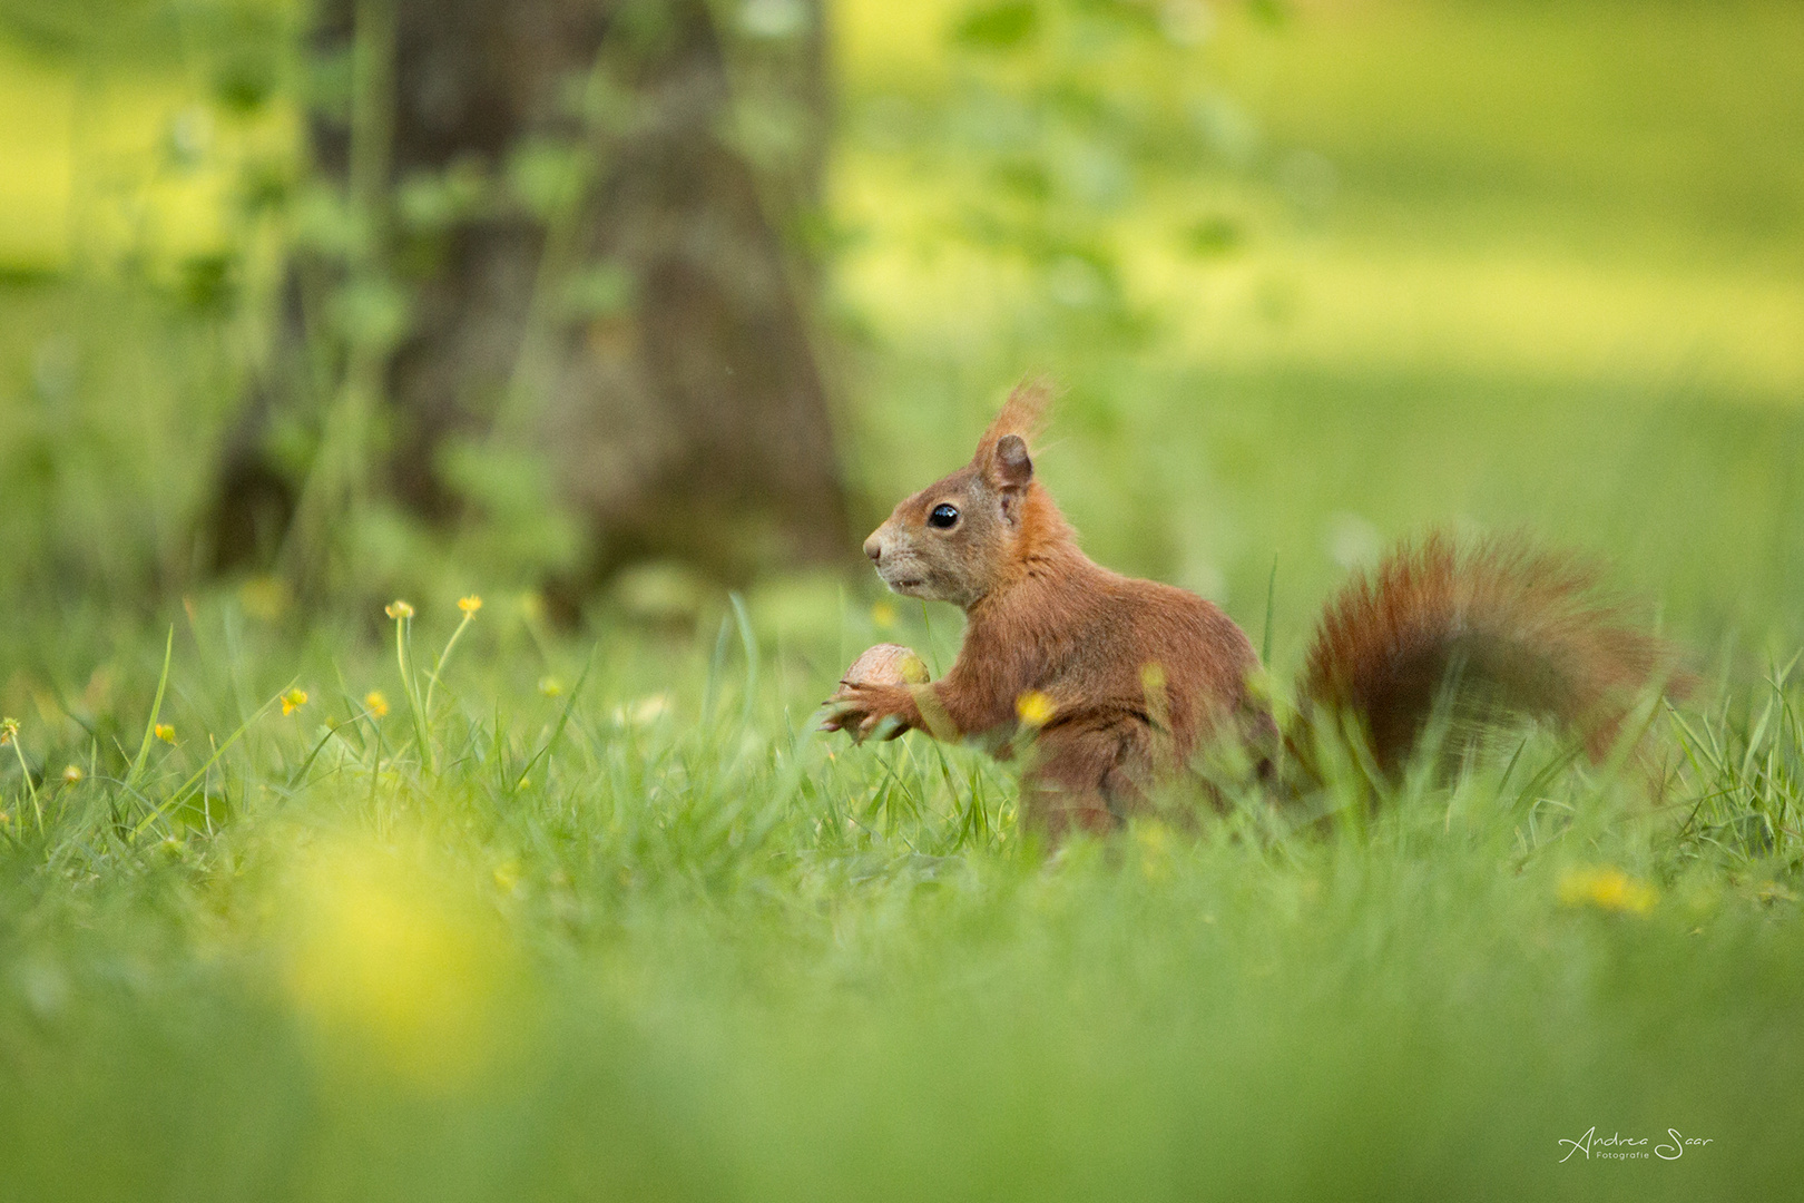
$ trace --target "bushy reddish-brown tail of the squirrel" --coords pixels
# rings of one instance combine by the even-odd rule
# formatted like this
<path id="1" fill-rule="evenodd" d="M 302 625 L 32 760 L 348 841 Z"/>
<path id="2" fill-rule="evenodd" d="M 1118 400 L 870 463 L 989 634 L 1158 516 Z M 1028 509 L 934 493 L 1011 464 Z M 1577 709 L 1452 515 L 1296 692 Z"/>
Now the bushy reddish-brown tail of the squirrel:
<path id="1" fill-rule="evenodd" d="M 1638 698 L 1687 689 L 1676 662 L 1600 599 L 1582 561 L 1519 539 L 1461 550 L 1431 534 L 1328 604 L 1286 743 L 1308 767 L 1322 734 L 1357 732 L 1394 777 L 1452 700 L 1456 712 L 1555 721 L 1600 759 Z"/>

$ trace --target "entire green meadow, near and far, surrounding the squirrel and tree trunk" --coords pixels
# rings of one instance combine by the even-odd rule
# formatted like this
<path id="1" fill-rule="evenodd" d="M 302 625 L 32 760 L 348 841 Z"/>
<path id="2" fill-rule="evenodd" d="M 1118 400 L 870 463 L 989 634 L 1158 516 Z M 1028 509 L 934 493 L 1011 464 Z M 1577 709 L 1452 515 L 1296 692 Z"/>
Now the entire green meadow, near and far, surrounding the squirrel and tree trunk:
<path id="1" fill-rule="evenodd" d="M 1073 233 L 960 141 L 1050 49 L 985 76 L 953 5 L 835 5 L 861 516 L 1048 370 L 1086 548 L 1279 682 L 1385 541 L 1533 530 L 1690 649 L 1665 792 L 1512 732 L 1326 828 L 1048 849 L 972 748 L 814 734 L 868 644 L 956 653 L 857 548 L 646 565 L 577 629 L 419 548 L 325 608 L 204 579 L 256 330 L 180 263 L 269 236 L 209 215 L 292 119 L 175 171 L 191 79 L 5 47 L 0 1196 L 1797 1196 L 1804 16 L 1171 7 L 1209 23 L 1147 96 L 1212 157 L 1111 200 L 1050 153 Z"/>

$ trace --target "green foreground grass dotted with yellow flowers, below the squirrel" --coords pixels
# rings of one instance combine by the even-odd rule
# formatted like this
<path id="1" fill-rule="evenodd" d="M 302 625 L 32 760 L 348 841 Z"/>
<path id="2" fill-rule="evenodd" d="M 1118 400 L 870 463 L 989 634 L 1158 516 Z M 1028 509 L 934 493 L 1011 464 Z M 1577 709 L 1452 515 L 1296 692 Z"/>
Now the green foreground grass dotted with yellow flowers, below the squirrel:
<path id="1" fill-rule="evenodd" d="M 976 752 L 812 736 L 832 642 L 606 629 L 491 601 L 420 729 L 391 647 L 233 597 L 166 678 L 45 682 L 36 801 L 0 776 L 9 1196 L 1795 1189 L 1804 689 L 1661 720 L 1656 808 L 1535 743 L 1335 831 L 1048 857 Z M 1595 866 L 1658 902 L 1562 902 Z M 1559 1163 L 1593 1124 L 1714 1143 Z"/>

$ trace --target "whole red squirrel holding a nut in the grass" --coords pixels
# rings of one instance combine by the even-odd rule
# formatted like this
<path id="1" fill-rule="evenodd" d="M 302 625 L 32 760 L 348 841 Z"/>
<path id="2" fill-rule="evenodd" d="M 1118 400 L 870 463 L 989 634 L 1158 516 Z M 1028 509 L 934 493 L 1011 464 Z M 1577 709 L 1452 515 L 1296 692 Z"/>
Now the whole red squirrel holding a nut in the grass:
<path id="1" fill-rule="evenodd" d="M 1582 565 L 1508 541 L 1461 552 L 1436 534 L 1328 604 L 1279 732 L 1254 684 L 1259 657 L 1227 613 L 1079 550 L 1034 478 L 1028 440 L 1048 402 L 1045 384 L 1016 388 L 971 464 L 864 541 L 891 590 L 960 606 L 965 637 L 938 682 L 841 682 L 823 730 L 981 738 L 1001 756 L 1030 734 L 1023 819 L 1054 839 L 1115 828 L 1147 806 L 1156 779 L 1223 739 L 1263 777 L 1283 759 L 1292 794 L 1321 779 L 1324 738 L 1357 741 L 1366 765 L 1394 776 L 1454 676 L 1497 707 L 1577 730 L 1600 758 L 1671 667 L 1658 638 L 1595 601 Z"/>

